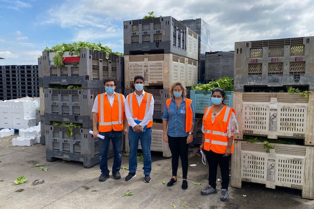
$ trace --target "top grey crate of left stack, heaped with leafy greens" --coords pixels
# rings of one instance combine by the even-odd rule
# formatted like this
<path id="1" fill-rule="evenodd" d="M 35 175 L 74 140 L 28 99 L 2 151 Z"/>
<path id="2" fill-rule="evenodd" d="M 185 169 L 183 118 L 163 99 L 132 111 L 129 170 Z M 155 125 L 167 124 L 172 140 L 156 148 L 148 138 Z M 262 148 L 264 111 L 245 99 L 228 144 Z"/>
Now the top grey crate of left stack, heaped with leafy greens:
<path id="1" fill-rule="evenodd" d="M 103 80 L 104 78 L 114 78 L 123 81 L 123 57 L 109 54 L 109 59 L 105 58 L 105 52 L 91 51 L 88 49 L 80 50 L 79 63 L 71 63 L 55 67 L 52 64 L 50 52 L 43 52 L 43 77 L 84 77 L 87 80 Z M 51 56 L 51 57 L 50 57 Z M 59 78 L 60 79 L 60 78 Z M 81 84 L 78 80 L 72 79 L 70 84 Z"/>

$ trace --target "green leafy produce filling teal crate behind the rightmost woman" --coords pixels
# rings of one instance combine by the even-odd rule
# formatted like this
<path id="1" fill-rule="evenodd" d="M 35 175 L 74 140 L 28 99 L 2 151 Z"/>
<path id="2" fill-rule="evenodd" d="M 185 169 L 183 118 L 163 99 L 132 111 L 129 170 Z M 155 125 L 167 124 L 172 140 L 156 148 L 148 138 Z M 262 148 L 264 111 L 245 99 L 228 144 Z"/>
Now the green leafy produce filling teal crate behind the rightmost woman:
<path id="1" fill-rule="evenodd" d="M 233 91 L 234 90 L 234 78 L 224 77 L 217 80 L 212 80 L 206 84 L 198 83 L 196 86 L 193 86 L 191 89 L 204 91 L 204 94 L 207 94 L 207 91 L 211 91 L 214 88 L 222 88 L 225 91 Z"/>

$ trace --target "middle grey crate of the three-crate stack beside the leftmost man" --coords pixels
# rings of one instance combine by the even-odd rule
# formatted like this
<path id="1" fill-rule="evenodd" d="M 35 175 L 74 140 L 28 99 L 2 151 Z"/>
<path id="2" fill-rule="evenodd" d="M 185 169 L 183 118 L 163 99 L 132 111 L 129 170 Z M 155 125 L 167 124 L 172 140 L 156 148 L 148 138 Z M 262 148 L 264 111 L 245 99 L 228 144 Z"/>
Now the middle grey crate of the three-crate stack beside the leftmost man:
<path id="1" fill-rule="evenodd" d="M 94 100 L 105 89 L 44 89 L 45 113 L 90 116 Z"/>

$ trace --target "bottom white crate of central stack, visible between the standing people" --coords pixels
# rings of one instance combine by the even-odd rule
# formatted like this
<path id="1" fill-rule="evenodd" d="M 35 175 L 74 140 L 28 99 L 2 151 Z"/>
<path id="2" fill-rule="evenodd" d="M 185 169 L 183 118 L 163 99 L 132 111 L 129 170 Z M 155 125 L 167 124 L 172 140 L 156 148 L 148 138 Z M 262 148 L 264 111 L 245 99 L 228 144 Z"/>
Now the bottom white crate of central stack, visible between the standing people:
<path id="1" fill-rule="evenodd" d="M 142 149 L 140 141 L 138 141 L 138 149 Z M 125 151 L 130 152 L 128 133 L 125 136 Z M 162 124 L 153 124 L 151 151 L 162 152 L 163 157 L 171 157 L 169 144 L 163 141 Z"/>

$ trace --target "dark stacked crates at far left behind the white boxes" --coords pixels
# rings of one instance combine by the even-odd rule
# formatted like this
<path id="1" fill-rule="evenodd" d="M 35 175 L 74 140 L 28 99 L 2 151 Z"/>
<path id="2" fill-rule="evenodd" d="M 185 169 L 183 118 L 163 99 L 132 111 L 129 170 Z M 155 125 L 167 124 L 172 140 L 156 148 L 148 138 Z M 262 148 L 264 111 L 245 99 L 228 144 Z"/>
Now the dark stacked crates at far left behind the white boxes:
<path id="1" fill-rule="evenodd" d="M 22 97 L 39 97 L 38 66 L 0 66 L 0 100 Z"/>

